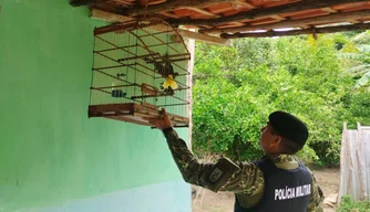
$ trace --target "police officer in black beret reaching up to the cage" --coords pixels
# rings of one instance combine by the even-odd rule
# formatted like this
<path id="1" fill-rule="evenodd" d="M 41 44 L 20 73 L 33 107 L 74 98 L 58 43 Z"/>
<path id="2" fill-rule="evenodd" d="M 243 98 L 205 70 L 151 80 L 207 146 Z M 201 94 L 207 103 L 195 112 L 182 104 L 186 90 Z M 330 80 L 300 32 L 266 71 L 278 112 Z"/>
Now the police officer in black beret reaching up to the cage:
<path id="1" fill-rule="evenodd" d="M 162 117 L 146 120 L 163 131 L 184 180 L 214 192 L 234 192 L 235 212 L 322 211 L 321 189 L 312 173 L 294 156 L 308 138 L 306 125 L 297 117 L 285 112 L 271 113 L 260 129 L 259 146 L 265 156 L 238 165 L 227 158 L 201 163 L 178 138 L 164 109 Z"/>

